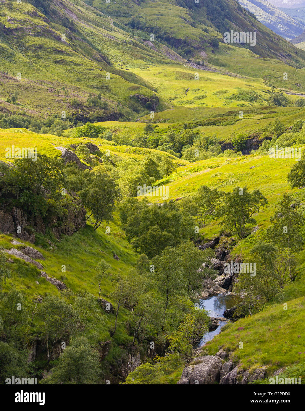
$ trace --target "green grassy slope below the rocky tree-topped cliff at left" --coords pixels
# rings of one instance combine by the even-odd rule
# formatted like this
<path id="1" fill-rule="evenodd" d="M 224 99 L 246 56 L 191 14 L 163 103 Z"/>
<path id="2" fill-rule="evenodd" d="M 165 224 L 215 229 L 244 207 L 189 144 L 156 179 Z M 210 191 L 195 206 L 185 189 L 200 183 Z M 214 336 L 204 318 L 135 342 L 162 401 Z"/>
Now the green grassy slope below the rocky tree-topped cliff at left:
<path id="1" fill-rule="evenodd" d="M 98 297 L 99 288 L 94 279 L 95 267 L 101 259 L 105 259 L 111 264 L 110 278 L 116 275 L 124 276 L 127 270 L 134 264 L 136 255 L 130 245 L 125 240 L 125 233 L 118 227 L 118 221 L 109 223 L 110 234 L 105 233 L 104 226 L 94 231 L 90 222 L 84 229 L 73 236 L 63 236 L 60 242 L 55 240 L 53 249 L 48 245 L 43 236 L 37 236 L 37 242 L 42 247 L 37 248 L 45 257 L 41 261 L 44 271 L 49 277 L 54 277 L 65 282 L 68 288 L 76 294 L 79 291 L 88 291 Z M 12 236 L 0 235 L 0 247 L 12 248 Z M 23 244 L 33 246 L 30 243 Z M 14 246 L 23 248 L 23 246 Z M 113 254 L 120 257 L 120 261 L 113 259 Z M 7 280 L 4 291 L 8 291 L 12 286 L 21 289 L 29 298 L 44 296 L 46 293 L 59 295 L 55 286 L 40 277 L 40 272 L 30 263 L 25 263 L 12 257 L 14 263 L 10 266 L 12 276 Z M 61 272 L 62 264 L 66 266 L 66 272 Z M 36 284 L 36 281 L 39 284 Z M 105 280 L 102 284 L 101 298 L 111 301 L 110 293 L 113 291 L 111 280 Z M 111 301 L 113 302 L 113 301 Z M 123 317 L 124 318 L 124 314 Z M 109 329 L 113 326 L 113 315 L 107 314 L 106 323 L 97 324 L 97 332 L 101 341 L 109 340 Z M 123 322 L 119 324 L 118 335 L 114 341 L 123 344 L 129 341 L 125 333 Z"/>

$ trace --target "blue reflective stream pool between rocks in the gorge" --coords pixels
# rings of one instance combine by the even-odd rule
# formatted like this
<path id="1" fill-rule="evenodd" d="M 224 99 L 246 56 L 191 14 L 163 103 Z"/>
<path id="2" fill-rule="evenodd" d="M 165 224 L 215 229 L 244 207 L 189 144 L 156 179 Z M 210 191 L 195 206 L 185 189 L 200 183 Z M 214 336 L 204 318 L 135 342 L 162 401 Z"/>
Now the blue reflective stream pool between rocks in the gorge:
<path id="1" fill-rule="evenodd" d="M 204 300 L 200 300 L 199 307 L 204 308 L 208 311 L 210 317 L 223 317 L 224 311 L 233 307 L 234 305 L 234 298 L 230 295 L 225 294 L 218 294 L 217 296 L 205 298 Z M 204 335 L 198 347 L 203 346 L 206 342 L 210 341 L 215 337 L 215 335 L 220 333 L 221 328 L 226 325 L 228 321 L 221 321 L 219 320 L 220 325 L 216 328 L 216 330 L 208 331 L 206 335 Z"/>

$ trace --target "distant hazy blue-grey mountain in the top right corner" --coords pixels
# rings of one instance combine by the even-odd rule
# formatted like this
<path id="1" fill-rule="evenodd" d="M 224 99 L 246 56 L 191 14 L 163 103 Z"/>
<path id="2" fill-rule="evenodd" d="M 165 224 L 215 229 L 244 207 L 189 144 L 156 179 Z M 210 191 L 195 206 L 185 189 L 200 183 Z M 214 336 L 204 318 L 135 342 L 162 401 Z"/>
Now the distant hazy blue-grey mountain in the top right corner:
<path id="1" fill-rule="evenodd" d="M 238 0 L 258 20 L 287 40 L 292 40 L 305 30 L 305 23 L 287 15 L 266 0 Z M 274 1 L 273 1 L 274 2 Z"/>

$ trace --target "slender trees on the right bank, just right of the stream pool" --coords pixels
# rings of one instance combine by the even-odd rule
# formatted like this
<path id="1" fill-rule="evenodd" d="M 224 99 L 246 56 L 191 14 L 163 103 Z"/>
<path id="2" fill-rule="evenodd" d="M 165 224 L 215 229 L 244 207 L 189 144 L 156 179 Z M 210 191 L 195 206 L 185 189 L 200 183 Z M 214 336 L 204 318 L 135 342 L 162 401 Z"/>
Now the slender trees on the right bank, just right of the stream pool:
<path id="1" fill-rule="evenodd" d="M 303 213 L 300 203 L 288 194 L 278 203 L 270 227 L 250 249 L 256 275 L 239 274 L 235 291 L 238 307 L 234 316 L 252 315 L 264 303 L 277 300 L 286 284 L 296 279 L 296 253 L 303 248 Z"/>

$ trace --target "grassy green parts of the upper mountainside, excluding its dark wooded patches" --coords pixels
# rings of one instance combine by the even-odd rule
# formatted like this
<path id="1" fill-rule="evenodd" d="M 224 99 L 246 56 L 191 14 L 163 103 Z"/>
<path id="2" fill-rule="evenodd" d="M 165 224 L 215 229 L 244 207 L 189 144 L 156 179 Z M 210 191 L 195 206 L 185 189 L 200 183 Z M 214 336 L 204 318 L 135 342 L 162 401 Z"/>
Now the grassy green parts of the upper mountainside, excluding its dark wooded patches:
<path id="1" fill-rule="evenodd" d="M 252 17 L 238 14 L 236 6 L 228 1 L 236 29 L 250 30 L 253 25 L 263 36 L 258 40 L 259 48 L 249 50 L 221 42 L 219 49 L 212 50 L 210 39 L 221 40 L 222 35 L 206 20 L 204 9 L 200 9 L 200 21 L 194 21 L 197 28 L 181 19 L 192 22 L 187 9 L 167 2 L 158 3 L 159 12 L 155 3 L 146 1 L 141 7 L 132 3 L 134 7 L 132 13 L 129 12 L 131 16 L 136 12 L 145 15 L 148 22 L 157 21 L 156 24 L 167 27 L 173 36 L 196 46 L 194 59 L 201 58 L 215 69 L 215 72 L 208 72 L 190 67 L 178 55 L 175 57 L 158 38 L 153 47 L 144 44 L 145 39 L 149 40 L 149 33 L 124 26 L 122 23 L 129 18 L 113 16 L 116 14 L 111 11 L 116 8 L 114 4 L 94 1 L 92 5 L 103 14 L 80 0 L 57 0 L 53 7 L 60 18 L 69 17 L 74 21 L 74 28 L 70 30 L 60 18 L 46 18 L 26 2 L 7 0 L 0 10 L 0 23 L 5 25 L 0 34 L 0 69 L 8 71 L 8 75 L 0 74 L 1 111 L 25 110 L 36 115 L 61 113 L 62 110 L 77 113 L 79 107 L 73 108 L 69 99 L 78 98 L 82 106 L 90 92 L 101 92 L 102 98 L 110 104 L 110 111 L 116 109 L 118 101 L 125 105 L 133 102 L 140 109 L 139 103 L 130 97 L 132 94 L 148 97 L 156 94 L 160 101 L 157 111 L 164 111 L 173 106 L 263 105 L 268 99 L 269 83 L 290 90 L 305 90 L 304 69 L 301 68 L 305 53 L 274 37 L 274 33 Z M 205 24 L 209 25 L 209 33 L 203 31 Z M 61 41 L 62 34 L 66 35 L 67 42 Z M 267 39 L 271 42 L 268 47 Z M 203 51 L 206 58 L 202 58 Z M 174 57 L 166 57 L 169 52 Z M 18 72 L 21 80 L 16 79 Z M 110 80 L 106 80 L 106 72 L 111 73 Z M 199 80 L 194 79 L 196 72 Z M 282 80 L 284 72 L 288 73 L 286 81 Z M 53 90 L 62 87 L 69 90 L 65 103 L 63 91 L 53 95 Z M 185 95 L 187 88 L 190 90 Z M 6 95 L 16 90 L 18 104 L 6 103 Z M 245 91 L 254 93 L 255 99 L 243 98 Z M 230 98 L 238 92 L 241 93 L 238 99 Z M 90 110 L 95 111 L 87 108 Z"/>

